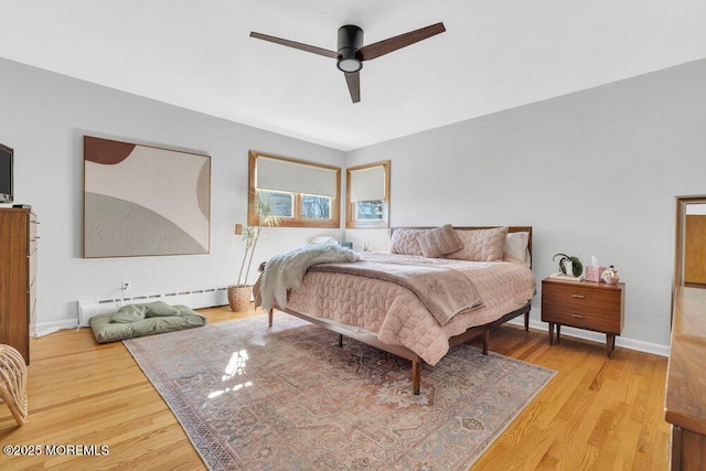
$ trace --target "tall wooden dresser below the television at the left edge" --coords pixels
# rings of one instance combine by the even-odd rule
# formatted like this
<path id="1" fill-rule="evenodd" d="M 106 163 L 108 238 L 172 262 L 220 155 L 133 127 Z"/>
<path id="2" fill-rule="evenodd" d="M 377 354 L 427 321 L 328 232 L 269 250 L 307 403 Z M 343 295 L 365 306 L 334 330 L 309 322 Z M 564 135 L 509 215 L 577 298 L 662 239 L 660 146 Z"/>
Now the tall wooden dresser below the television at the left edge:
<path id="1" fill-rule="evenodd" d="M 36 216 L 29 208 L 0 208 L 0 343 L 30 364 L 36 317 Z"/>

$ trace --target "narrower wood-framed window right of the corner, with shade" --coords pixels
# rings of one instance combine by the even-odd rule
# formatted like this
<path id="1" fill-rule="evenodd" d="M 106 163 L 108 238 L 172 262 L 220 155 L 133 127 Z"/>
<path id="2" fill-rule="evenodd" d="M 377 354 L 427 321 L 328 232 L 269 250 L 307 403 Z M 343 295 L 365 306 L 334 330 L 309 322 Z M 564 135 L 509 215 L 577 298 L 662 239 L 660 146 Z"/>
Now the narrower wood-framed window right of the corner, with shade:
<path id="1" fill-rule="evenodd" d="M 345 227 L 389 226 L 389 160 L 345 172 Z"/>

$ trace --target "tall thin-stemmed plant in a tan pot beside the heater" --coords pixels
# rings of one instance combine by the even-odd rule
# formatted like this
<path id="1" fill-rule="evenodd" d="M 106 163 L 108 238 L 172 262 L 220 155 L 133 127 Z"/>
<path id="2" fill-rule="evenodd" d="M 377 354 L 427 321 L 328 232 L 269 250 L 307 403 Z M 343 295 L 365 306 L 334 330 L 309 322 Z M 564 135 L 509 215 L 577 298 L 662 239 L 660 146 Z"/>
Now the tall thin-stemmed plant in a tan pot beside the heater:
<path id="1" fill-rule="evenodd" d="M 253 296 L 253 285 L 248 285 L 247 278 L 253 266 L 255 247 L 264 227 L 279 225 L 279 217 L 274 215 L 272 205 L 260 194 L 255 199 L 255 208 L 259 215 L 257 225 L 243 228 L 243 240 L 245 242 L 245 254 L 238 272 L 237 282 L 228 286 L 228 304 L 234 312 L 247 311 Z"/>

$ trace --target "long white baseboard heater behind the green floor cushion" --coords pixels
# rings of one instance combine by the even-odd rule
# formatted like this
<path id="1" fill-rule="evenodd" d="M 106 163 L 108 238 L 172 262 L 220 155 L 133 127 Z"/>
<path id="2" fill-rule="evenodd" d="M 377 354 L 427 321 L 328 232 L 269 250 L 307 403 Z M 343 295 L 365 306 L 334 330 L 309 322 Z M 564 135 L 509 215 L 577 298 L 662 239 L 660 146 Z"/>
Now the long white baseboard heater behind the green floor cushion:
<path id="1" fill-rule="evenodd" d="M 160 295 L 135 296 L 119 299 L 92 299 L 78 301 L 78 325 L 88 325 L 88 320 L 97 314 L 115 312 L 125 304 L 164 301 L 168 304 L 185 304 L 191 309 L 211 308 L 228 303 L 227 288 L 199 289 L 194 291 L 167 292 Z"/>

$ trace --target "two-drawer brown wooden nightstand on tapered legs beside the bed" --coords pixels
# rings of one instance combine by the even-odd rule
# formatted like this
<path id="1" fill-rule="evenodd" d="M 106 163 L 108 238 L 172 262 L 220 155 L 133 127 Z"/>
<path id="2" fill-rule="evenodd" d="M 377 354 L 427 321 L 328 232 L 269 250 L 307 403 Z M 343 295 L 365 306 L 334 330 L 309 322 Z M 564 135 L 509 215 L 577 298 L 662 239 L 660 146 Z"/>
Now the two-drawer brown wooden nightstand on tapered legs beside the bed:
<path id="1" fill-rule="evenodd" d="M 549 344 L 559 342 L 561 325 L 588 329 L 606 334 L 608 357 L 616 349 L 625 307 L 625 283 L 542 280 L 542 320 L 549 323 Z"/>

